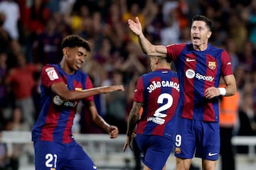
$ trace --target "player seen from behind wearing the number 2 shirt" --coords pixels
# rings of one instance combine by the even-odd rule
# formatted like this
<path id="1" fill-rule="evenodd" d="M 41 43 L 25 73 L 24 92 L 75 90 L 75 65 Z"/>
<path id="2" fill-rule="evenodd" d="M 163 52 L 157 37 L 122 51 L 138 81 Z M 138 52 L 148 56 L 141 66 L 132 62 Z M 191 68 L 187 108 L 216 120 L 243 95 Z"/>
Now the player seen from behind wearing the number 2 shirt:
<path id="1" fill-rule="evenodd" d="M 134 91 L 132 110 L 129 113 L 127 141 L 132 148 L 134 128 L 136 142 L 144 157 L 144 170 L 165 169 L 174 147 L 176 106 L 178 104 L 178 75 L 171 71 L 171 60 L 150 57 L 152 72 L 142 75 Z M 140 108 L 143 108 L 139 118 Z"/>

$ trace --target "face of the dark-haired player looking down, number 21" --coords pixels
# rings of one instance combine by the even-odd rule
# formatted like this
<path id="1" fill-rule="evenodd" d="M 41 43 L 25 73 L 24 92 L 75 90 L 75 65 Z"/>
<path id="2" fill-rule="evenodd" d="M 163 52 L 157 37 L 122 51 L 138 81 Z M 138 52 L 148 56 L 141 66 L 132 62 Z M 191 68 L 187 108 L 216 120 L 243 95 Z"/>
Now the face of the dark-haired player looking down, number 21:
<path id="1" fill-rule="evenodd" d="M 85 63 L 87 50 L 83 47 L 68 47 L 66 55 L 69 69 L 78 70 Z"/>

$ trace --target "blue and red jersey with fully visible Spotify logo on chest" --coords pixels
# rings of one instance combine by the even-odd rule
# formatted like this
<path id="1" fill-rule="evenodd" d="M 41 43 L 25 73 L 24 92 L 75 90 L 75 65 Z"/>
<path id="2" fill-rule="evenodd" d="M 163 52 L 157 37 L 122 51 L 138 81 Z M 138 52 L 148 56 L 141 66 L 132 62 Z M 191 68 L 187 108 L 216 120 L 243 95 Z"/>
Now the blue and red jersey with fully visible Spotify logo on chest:
<path id="1" fill-rule="evenodd" d="M 233 74 L 228 53 L 208 44 L 204 51 L 196 51 L 193 44 L 166 46 L 167 57 L 174 61 L 180 83 L 178 116 L 193 120 L 218 122 L 218 97 L 206 99 L 205 90 L 219 86 L 220 76 Z"/>

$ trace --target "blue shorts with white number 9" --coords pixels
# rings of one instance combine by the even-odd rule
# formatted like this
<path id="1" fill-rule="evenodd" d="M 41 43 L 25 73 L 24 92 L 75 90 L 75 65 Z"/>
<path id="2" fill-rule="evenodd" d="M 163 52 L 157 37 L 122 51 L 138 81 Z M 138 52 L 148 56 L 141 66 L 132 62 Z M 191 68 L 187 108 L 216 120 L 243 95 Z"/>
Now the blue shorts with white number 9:
<path id="1" fill-rule="evenodd" d="M 217 122 L 176 118 L 175 157 L 218 160 L 220 129 Z"/>

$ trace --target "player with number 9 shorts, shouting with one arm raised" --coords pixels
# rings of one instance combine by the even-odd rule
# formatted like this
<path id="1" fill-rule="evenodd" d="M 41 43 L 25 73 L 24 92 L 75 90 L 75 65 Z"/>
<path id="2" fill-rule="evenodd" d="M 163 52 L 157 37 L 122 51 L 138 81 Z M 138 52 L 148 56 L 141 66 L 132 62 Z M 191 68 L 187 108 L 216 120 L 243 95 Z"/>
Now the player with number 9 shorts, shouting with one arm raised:
<path id="1" fill-rule="evenodd" d="M 147 55 L 167 57 L 174 61 L 180 84 L 177 107 L 175 156 L 176 169 L 188 170 L 191 159 L 202 159 L 203 170 L 214 170 L 220 151 L 219 96 L 232 96 L 235 77 L 228 53 L 208 42 L 211 22 L 205 16 L 194 16 L 191 43 L 152 45 L 142 32 L 139 18 L 128 20 L 129 28 L 139 37 Z M 218 88 L 223 76 L 225 87 Z"/>

